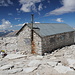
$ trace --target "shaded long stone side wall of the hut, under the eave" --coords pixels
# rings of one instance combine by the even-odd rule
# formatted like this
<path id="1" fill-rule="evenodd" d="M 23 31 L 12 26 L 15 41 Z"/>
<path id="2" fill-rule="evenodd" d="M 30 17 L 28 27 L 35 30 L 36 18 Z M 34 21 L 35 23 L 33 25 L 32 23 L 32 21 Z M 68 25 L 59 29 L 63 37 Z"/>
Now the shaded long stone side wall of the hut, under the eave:
<path id="1" fill-rule="evenodd" d="M 74 43 L 74 32 L 67 32 L 58 35 L 47 36 L 42 39 L 43 53 L 51 52 L 53 49 L 71 45 Z"/>

